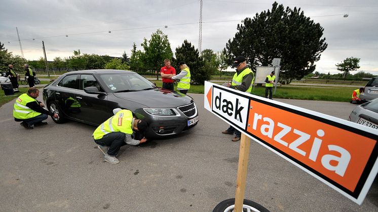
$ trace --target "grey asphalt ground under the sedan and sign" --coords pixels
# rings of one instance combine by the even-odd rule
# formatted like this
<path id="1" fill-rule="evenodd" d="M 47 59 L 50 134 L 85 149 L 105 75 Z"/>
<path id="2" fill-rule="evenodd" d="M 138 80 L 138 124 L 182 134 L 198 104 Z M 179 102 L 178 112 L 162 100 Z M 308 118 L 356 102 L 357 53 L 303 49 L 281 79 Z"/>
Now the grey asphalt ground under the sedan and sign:
<path id="1" fill-rule="evenodd" d="M 179 137 L 124 146 L 119 164 L 102 159 L 94 126 L 69 121 L 23 129 L 13 102 L 0 108 L 0 211 L 212 211 L 235 197 L 240 142 L 190 94 L 200 122 Z M 346 119 L 349 103 L 278 100 Z M 271 211 L 378 211 L 378 183 L 362 205 L 251 143 L 245 198 Z"/>

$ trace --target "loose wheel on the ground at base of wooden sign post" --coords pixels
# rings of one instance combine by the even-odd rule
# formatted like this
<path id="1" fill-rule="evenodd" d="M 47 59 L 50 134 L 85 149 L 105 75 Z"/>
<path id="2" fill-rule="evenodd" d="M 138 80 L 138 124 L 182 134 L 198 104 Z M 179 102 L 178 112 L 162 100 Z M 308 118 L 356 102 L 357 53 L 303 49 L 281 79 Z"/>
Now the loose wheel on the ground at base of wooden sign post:
<path id="1" fill-rule="evenodd" d="M 235 198 L 226 199 L 217 204 L 213 212 L 232 212 L 235 209 Z M 255 212 L 269 212 L 269 210 L 260 204 L 244 199 L 243 201 L 243 211 L 255 211 Z"/>

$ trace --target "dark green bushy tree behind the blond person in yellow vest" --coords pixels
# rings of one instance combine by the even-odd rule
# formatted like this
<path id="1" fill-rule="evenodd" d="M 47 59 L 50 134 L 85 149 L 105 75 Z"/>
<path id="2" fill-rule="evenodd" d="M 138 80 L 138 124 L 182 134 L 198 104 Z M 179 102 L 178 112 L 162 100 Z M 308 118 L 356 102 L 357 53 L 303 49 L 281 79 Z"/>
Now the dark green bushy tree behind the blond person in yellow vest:
<path id="1" fill-rule="evenodd" d="M 210 79 L 211 73 L 206 71 L 203 67 L 205 64 L 203 59 L 200 57 L 198 49 L 195 49 L 194 46 L 192 46 L 192 44 L 186 39 L 182 43 L 181 47 L 176 48 L 175 55 L 175 64 L 178 63 L 177 61 L 184 61 L 191 70 L 191 80 L 194 81 L 194 83 L 204 84 L 205 80 Z M 178 67 L 176 70 L 179 70 Z"/>

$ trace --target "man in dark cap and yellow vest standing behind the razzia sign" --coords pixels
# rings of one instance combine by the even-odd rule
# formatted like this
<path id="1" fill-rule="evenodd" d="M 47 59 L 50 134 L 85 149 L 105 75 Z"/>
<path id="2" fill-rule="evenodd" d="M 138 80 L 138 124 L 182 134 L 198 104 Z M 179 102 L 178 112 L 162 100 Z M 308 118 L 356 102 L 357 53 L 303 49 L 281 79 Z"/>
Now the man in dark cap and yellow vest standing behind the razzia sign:
<path id="1" fill-rule="evenodd" d="M 255 77 L 252 70 L 247 66 L 247 60 L 245 59 L 245 57 L 238 56 L 235 59 L 232 67 L 236 67 L 236 73 L 232 79 L 232 83 L 227 83 L 225 86 L 250 94 L 252 91 L 253 81 Z M 235 134 L 235 137 L 232 139 L 232 141 L 239 141 L 242 135 L 240 131 L 236 130 L 231 125 L 227 130 L 223 131 L 222 133 L 231 135 Z"/>

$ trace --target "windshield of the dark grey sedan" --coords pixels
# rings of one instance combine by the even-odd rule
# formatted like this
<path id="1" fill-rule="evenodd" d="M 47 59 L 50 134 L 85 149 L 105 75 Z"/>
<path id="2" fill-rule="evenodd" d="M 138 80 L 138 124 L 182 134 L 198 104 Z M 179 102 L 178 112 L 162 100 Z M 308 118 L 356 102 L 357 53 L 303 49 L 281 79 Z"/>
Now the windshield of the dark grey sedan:
<path id="1" fill-rule="evenodd" d="M 112 92 L 134 92 L 156 88 L 152 82 L 137 73 L 101 74 L 100 78 Z"/>

